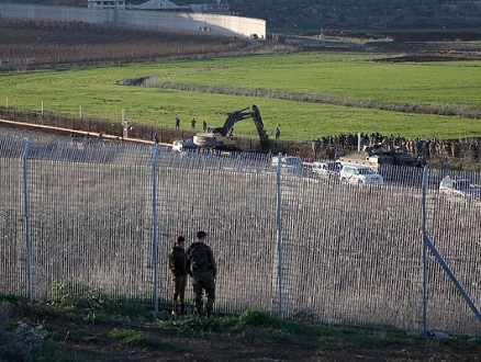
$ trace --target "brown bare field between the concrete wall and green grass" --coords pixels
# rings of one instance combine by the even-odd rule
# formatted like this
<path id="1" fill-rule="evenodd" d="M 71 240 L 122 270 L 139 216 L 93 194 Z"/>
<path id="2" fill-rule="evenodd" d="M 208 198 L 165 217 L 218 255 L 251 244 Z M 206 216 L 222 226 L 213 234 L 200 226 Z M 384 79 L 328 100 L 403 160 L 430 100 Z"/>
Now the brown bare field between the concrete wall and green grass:
<path id="1" fill-rule="evenodd" d="M 359 41 L 391 37 L 385 47 L 376 48 L 367 43 L 366 50 L 395 53 L 404 56 L 389 57 L 389 61 L 429 61 L 480 58 L 481 34 L 473 32 L 387 32 L 366 34 L 325 31 L 331 38 Z M 237 36 L 214 33 L 175 32 L 168 30 L 114 27 L 83 22 L 48 20 L 15 20 L 0 18 L 1 60 L 9 59 L 9 69 L 37 69 L 97 64 L 122 64 L 181 59 L 191 57 L 233 56 L 269 52 L 349 52 L 349 43 L 323 46 L 310 41 L 313 34 L 286 37 L 277 42 L 255 42 Z M 305 36 L 305 37 L 304 37 Z M 271 38 L 269 34 L 267 38 Z M 305 41 L 303 41 L 305 38 Z M 317 43 L 317 44 L 316 44 Z M 282 47 L 283 45 L 283 47 Z M 273 50 L 275 49 L 275 50 Z M 362 52 L 362 47 L 353 47 Z M 382 59 L 379 59 L 382 60 Z"/>

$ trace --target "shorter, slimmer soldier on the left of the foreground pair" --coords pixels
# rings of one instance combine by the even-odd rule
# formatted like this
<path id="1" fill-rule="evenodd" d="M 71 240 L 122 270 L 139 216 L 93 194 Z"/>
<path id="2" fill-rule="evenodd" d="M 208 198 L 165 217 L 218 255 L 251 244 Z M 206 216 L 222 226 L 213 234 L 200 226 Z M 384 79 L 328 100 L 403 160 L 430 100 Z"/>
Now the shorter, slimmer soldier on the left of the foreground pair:
<path id="1" fill-rule="evenodd" d="M 178 236 L 169 252 L 169 269 L 174 283 L 172 316 L 186 313 L 187 254 L 184 242 L 184 237 Z"/>

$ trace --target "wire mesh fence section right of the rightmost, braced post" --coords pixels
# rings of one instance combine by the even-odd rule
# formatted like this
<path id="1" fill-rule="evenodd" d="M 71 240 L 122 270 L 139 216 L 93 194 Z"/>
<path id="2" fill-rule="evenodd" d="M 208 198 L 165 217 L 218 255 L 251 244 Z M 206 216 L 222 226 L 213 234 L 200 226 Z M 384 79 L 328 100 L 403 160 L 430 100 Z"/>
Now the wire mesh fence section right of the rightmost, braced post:
<path id="1" fill-rule="evenodd" d="M 434 179 L 443 179 L 446 173 L 480 184 L 477 172 L 439 172 L 433 170 Z M 426 230 L 429 239 L 463 286 L 466 293 L 478 308 L 481 305 L 481 248 L 480 231 L 481 203 L 476 197 L 430 194 L 426 202 Z M 428 328 L 440 330 L 462 329 L 467 335 L 479 335 L 480 323 L 448 279 L 432 253 L 428 253 Z M 448 313 L 451 318 L 441 318 Z M 433 321 L 436 320 L 436 326 Z"/>

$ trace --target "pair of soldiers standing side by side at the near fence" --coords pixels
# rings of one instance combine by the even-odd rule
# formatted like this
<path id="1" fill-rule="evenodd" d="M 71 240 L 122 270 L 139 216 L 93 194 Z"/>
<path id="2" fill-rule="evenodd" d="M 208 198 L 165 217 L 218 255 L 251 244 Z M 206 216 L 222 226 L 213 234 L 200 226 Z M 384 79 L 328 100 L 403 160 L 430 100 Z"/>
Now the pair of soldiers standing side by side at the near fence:
<path id="1" fill-rule="evenodd" d="M 217 268 L 211 247 L 205 244 L 208 235 L 198 231 L 195 241 L 186 250 L 186 239 L 178 236 L 174 247 L 169 251 L 169 269 L 172 276 L 172 316 L 186 314 L 186 285 L 190 276 L 192 279 L 193 293 L 195 294 L 194 313 L 198 316 L 209 318 L 215 301 L 215 278 Z M 206 304 L 203 305 L 205 292 Z"/>

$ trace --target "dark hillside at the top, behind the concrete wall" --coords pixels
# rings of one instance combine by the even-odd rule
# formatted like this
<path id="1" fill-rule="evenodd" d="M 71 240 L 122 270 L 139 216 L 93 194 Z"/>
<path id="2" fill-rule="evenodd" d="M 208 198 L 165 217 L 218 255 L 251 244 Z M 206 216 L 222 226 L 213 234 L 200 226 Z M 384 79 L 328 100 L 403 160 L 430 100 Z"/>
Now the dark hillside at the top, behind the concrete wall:
<path id="1" fill-rule="evenodd" d="M 36 4 L 86 7 L 86 0 L 0 0 Z M 138 4 L 144 0 L 127 0 Z M 191 0 L 175 0 L 179 5 Z M 214 2 L 213 0 L 198 1 Z M 377 29 L 377 27 L 479 27 L 481 1 L 445 0 L 224 0 L 235 14 L 260 18 L 269 31 Z"/>

